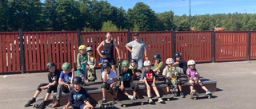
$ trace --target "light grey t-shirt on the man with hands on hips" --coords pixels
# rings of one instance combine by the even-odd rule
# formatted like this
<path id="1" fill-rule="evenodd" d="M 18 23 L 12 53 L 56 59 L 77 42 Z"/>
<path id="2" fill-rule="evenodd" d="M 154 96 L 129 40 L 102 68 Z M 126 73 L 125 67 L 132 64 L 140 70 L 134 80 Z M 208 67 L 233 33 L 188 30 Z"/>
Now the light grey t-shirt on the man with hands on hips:
<path id="1" fill-rule="evenodd" d="M 143 59 L 143 53 L 146 49 L 146 45 L 143 41 L 130 41 L 126 46 L 131 47 L 133 53 L 131 53 L 132 59 Z"/>

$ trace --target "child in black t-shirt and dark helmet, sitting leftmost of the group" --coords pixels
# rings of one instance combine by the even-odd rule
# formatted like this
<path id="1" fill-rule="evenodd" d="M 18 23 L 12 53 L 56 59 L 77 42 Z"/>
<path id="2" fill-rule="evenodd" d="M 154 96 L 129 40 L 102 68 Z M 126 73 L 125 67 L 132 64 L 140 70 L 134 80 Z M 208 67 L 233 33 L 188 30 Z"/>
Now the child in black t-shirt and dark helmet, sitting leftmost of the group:
<path id="1" fill-rule="evenodd" d="M 55 68 L 55 64 L 53 62 L 48 62 L 46 64 L 46 68 L 48 69 L 48 82 L 49 83 L 43 83 L 38 85 L 37 91 L 35 91 L 34 96 L 28 103 L 26 103 L 25 107 L 31 106 L 32 103 L 36 101 L 36 98 L 40 94 L 40 92 L 43 90 L 47 90 L 46 98 L 44 101 L 39 105 L 39 109 L 44 109 L 46 107 L 46 101 L 49 99 L 51 91 L 56 91 L 58 86 L 58 78 L 60 75 L 60 71 Z"/>

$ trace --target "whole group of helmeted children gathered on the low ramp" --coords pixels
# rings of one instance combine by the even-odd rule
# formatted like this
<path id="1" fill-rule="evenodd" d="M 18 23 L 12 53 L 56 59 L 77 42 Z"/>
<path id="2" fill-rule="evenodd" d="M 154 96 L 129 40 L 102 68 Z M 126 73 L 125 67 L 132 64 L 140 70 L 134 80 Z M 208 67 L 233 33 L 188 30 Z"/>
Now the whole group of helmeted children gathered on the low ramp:
<path id="1" fill-rule="evenodd" d="M 42 89 L 47 90 L 46 97 L 44 101 L 39 105 L 39 108 L 46 107 L 46 101 L 49 99 L 51 91 L 56 91 L 56 102 L 52 105 L 52 107 L 58 107 L 60 105 L 60 98 L 63 92 L 70 92 L 68 103 L 66 104 L 65 109 L 79 109 L 79 108 L 93 108 L 90 104 L 90 99 L 86 93 L 86 90 L 82 88 L 82 85 L 88 82 L 88 78 L 86 71 L 90 70 L 90 72 L 94 72 L 94 67 L 96 66 L 96 58 L 92 56 L 93 49 L 91 47 L 87 47 L 85 45 L 81 45 L 78 48 L 78 72 L 77 76 L 74 76 L 74 68 L 71 69 L 70 63 L 66 62 L 62 64 L 62 72 L 58 71 L 53 62 L 49 62 L 46 64 L 46 68 L 49 71 L 48 80 L 49 83 L 40 84 L 38 86 L 37 91 L 34 93 L 34 96 L 30 101 L 25 105 L 25 107 L 29 107 L 32 103 L 36 101 L 36 98 L 42 91 Z M 186 63 L 185 60 L 182 60 L 181 53 L 175 53 L 176 62 L 174 59 L 168 58 L 166 60 L 166 64 L 161 60 L 161 56 L 159 54 L 154 55 L 154 69 L 151 69 L 150 60 L 145 60 L 143 66 L 145 71 L 142 73 L 142 70 L 138 68 L 136 60 L 123 60 L 122 61 L 122 70 L 119 72 L 120 84 L 118 84 L 118 75 L 117 72 L 111 70 L 111 60 L 107 56 L 108 51 L 103 49 L 101 51 L 101 58 L 99 60 L 99 65 L 101 68 L 101 79 L 102 79 L 102 103 L 106 103 L 106 90 L 111 89 L 114 91 L 114 102 L 117 100 L 117 92 L 122 91 L 129 99 L 135 100 L 137 92 L 139 90 L 138 84 L 134 84 L 133 80 L 138 79 L 139 81 L 143 81 L 146 85 L 147 96 L 149 103 L 152 103 L 152 99 L 150 98 L 150 89 L 153 88 L 155 95 L 158 96 L 158 102 L 163 102 L 158 89 L 156 87 L 155 81 L 157 78 L 162 77 L 166 81 L 168 87 L 166 87 L 166 91 L 171 93 L 172 91 L 180 91 L 180 96 L 184 97 L 182 93 L 182 81 L 179 79 L 180 75 L 186 75 L 187 80 L 190 82 L 190 95 L 193 95 L 194 84 L 200 84 L 202 89 L 206 91 L 206 94 L 210 94 L 210 91 L 203 86 L 202 82 L 199 79 L 199 74 L 197 69 L 195 68 L 195 61 L 189 60 Z M 189 68 L 187 68 L 187 66 Z M 94 75 L 96 77 L 96 75 Z M 126 88 L 132 88 L 133 93 L 129 94 L 126 91 Z"/>

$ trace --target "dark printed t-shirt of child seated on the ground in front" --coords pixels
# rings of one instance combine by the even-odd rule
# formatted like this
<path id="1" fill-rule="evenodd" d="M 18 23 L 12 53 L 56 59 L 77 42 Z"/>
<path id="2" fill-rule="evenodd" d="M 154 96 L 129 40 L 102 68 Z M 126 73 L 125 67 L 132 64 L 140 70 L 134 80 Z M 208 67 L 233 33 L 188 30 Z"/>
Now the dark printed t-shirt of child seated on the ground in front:
<path id="1" fill-rule="evenodd" d="M 86 89 L 81 88 L 80 91 L 74 89 L 70 91 L 69 102 L 73 103 L 75 107 L 80 107 L 85 101 L 89 101 Z"/>

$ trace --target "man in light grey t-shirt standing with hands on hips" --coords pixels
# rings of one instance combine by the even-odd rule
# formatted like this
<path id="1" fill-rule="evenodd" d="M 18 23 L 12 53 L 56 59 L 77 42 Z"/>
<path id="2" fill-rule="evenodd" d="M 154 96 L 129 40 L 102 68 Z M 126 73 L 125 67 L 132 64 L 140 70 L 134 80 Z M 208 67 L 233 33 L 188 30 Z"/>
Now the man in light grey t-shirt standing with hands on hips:
<path id="1" fill-rule="evenodd" d="M 134 33 L 134 41 L 130 41 L 126 44 L 126 49 L 130 51 L 131 58 L 137 60 L 138 69 L 142 70 L 143 52 L 146 60 L 148 60 L 148 57 L 146 55 L 146 45 L 139 39 L 138 33 Z"/>

